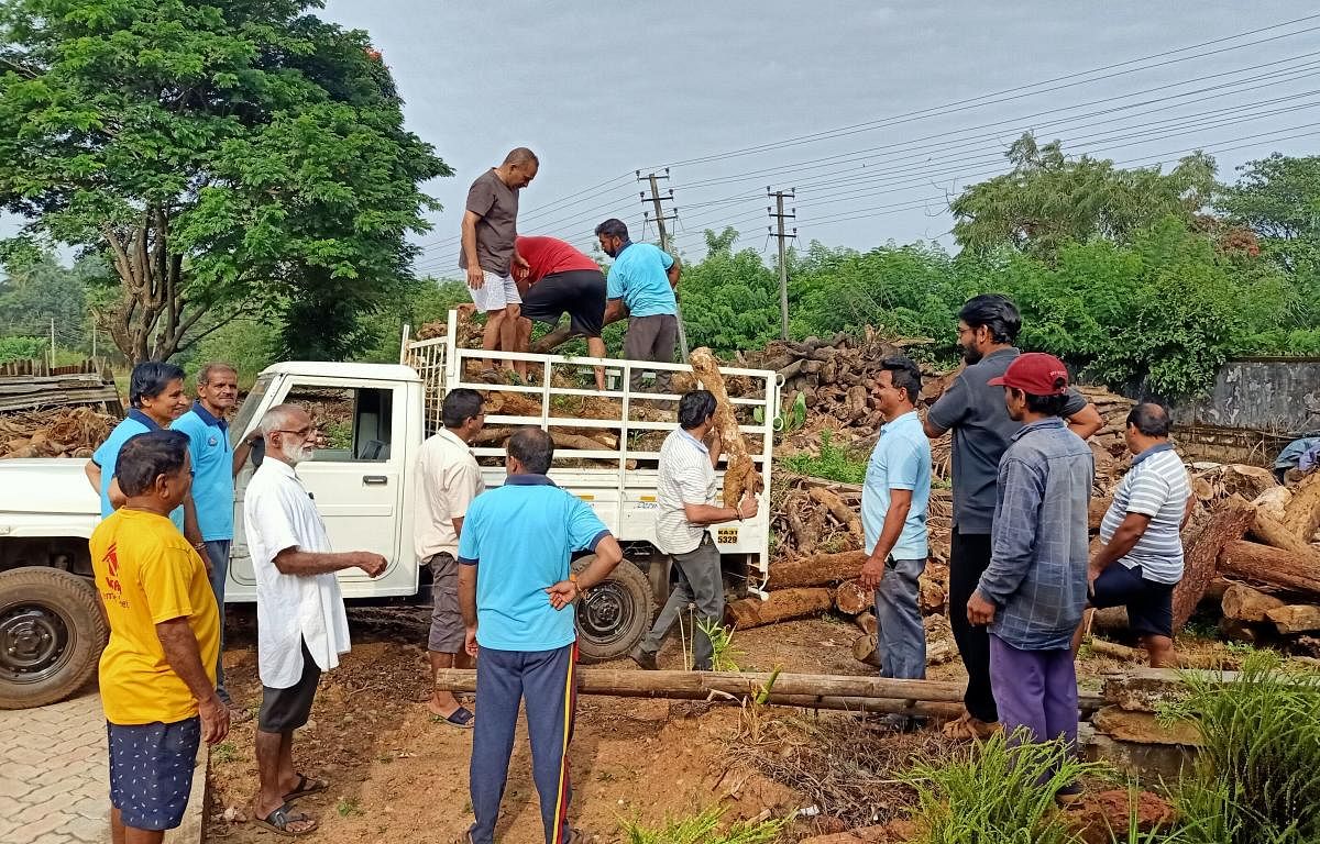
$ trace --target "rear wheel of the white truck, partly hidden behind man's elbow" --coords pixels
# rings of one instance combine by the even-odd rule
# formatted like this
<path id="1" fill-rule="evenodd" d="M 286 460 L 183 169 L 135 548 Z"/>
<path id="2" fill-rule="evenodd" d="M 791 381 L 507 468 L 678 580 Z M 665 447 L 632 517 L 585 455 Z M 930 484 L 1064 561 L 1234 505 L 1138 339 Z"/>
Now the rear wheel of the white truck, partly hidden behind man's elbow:
<path id="1" fill-rule="evenodd" d="M 573 572 L 594 559 L 594 554 L 578 559 Z M 647 576 L 632 562 L 623 560 L 578 601 L 578 657 L 582 662 L 605 662 L 628 655 L 651 629 L 653 612 Z"/>

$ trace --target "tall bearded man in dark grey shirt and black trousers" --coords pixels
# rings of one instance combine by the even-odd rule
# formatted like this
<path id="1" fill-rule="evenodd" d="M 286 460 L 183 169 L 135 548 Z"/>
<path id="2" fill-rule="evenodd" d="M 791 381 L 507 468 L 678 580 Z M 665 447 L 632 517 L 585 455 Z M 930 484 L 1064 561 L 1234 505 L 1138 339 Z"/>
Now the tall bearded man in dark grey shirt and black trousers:
<path id="1" fill-rule="evenodd" d="M 990 380 L 1003 376 L 1022 352 L 1012 343 L 1022 316 L 1007 298 L 978 295 L 958 311 L 958 346 L 966 369 L 931 406 L 927 437 L 953 431 L 953 535 L 949 545 L 949 621 L 953 640 L 968 670 L 968 711 L 945 727 L 950 736 L 986 736 L 999 720 L 990 690 L 990 640 L 985 628 L 968 624 L 968 600 L 990 564 L 990 530 L 995 512 L 999 458 L 1022 423 L 1005 409 L 1003 390 Z M 1082 439 L 1101 429 L 1104 419 L 1080 393 L 1069 390 L 1060 411 Z"/>

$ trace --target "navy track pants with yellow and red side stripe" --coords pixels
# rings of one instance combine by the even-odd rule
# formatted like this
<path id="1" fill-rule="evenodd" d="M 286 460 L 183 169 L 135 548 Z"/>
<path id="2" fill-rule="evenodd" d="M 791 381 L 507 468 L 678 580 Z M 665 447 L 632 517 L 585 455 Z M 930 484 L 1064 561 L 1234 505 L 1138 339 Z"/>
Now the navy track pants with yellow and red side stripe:
<path id="1" fill-rule="evenodd" d="M 554 650 L 492 650 L 477 658 L 477 699 L 480 711 L 473 728 L 469 771 L 473 844 L 495 841 L 495 822 L 508 781 L 519 702 L 527 704 L 527 732 L 532 742 L 532 779 L 541 800 L 545 844 L 569 837 L 569 740 L 577 709 L 577 645 Z"/>

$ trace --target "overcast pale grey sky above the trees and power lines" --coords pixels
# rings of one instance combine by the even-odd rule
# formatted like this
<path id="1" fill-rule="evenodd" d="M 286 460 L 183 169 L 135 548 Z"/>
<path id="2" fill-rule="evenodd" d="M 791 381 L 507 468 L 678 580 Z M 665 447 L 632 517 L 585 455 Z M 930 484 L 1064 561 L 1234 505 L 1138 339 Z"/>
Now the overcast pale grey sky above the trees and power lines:
<path id="1" fill-rule="evenodd" d="M 1309 154 L 1320 149 L 1320 17 L 1230 37 L 1315 13 L 1299 0 L 330 0 L 325 9 L 371 33 L 409 128 L 455 171 L 429 186 L 445 210 L 417 239 L 418 269 L 436 274 L 454 272 L 467 185 L 516 145 L 541 158 L 523 191 L 523 232 L 585 247 L 607 216 L 640 227 L 634 171 L 673 165 L 677 244 L 689 255 L 704 228 L 726 223 L 741 245 L 766 248 L 767 185 L 799 189 L 791 204 L 803 243 L 952 247 L 942 198 L 1003 171 L 999 156 L 1026 129 L 1118 162 L 1222 149 L 1221 178 L 1274 150 Z M 1159 58 L 1076 76 L 1143 57 Z M 941 108 L 1060 76 L 1073 78 Z M 1085 106 L 1096 100 L 1105 102 Z M 923 109 L 935 111 L 895 120 Z"/>

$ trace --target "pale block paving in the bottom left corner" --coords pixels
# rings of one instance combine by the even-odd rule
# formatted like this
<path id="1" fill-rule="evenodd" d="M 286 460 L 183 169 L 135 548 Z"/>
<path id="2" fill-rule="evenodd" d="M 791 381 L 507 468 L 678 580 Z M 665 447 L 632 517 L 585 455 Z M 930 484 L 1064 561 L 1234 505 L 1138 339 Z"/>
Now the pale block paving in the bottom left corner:
<path id="1" fill-rule="evenodd" d="M 40 709 L 0 709 L 0 844 L 108 840 L 100 696 L 84 694 Z"/>

